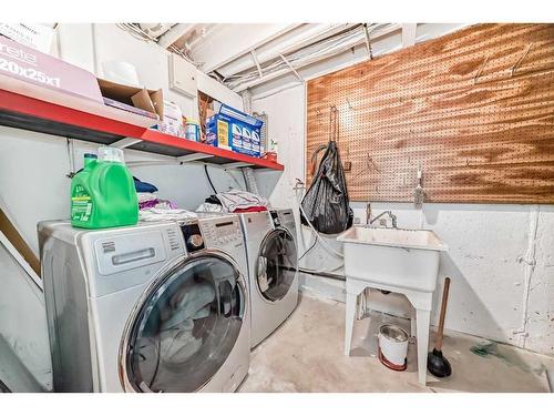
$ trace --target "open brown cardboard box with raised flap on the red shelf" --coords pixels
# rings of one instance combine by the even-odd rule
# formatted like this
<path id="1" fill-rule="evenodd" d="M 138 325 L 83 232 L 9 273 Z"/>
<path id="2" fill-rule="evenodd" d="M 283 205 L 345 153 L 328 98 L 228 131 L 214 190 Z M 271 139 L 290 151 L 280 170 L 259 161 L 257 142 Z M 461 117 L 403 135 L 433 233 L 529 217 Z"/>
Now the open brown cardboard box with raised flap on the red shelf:
<path id="1" fill-rule="evenodd" d="M 145 88 L 120 84 L 101 78 L 99 78 L 98 81 L 106 105 L 136 112 L 137 114 L 146 116 L 153 115 L 153 118 L 158 120 L 164 119 L 164 95 L 161 89 L 147 90 Z M 142 110 L 142 112 L 133 111 L 132 108 Z M 144 111 L 147 114 L 144 114 Z"/>

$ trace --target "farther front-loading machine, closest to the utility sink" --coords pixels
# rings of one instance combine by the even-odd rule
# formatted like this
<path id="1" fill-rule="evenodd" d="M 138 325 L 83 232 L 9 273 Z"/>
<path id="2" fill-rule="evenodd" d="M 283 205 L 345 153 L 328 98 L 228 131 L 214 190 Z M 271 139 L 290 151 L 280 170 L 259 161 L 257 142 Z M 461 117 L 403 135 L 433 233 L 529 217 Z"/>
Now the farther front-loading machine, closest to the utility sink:
<path id="1" fill-rule="evenodd" d="M 298 304 L 298 253 L 293 210 L 240 214 L 248 258 L 250 347 L 269 336 Z"/>

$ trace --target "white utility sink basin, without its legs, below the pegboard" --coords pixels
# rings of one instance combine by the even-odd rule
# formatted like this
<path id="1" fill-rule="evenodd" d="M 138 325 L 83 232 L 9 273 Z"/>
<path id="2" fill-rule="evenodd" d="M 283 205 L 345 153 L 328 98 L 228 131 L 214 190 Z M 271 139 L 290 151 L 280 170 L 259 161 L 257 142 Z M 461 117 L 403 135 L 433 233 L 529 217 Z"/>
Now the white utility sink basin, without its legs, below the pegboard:
<path id="1" fill-rule="evenodd" d="M 347 277 L 433 292 L 440 252 L 448 246 L 429 230 L 353 226 L 337 237 L 345 244 Z"/>

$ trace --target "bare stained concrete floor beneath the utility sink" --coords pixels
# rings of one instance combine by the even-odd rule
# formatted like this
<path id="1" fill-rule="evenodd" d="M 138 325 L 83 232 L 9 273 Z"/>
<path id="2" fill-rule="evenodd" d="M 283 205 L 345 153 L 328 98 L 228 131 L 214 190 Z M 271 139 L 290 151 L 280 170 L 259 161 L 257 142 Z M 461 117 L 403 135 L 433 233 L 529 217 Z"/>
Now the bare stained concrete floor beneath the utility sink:
<path id="1" fill-rule="evenodd" d="M 554 357 L 461 333 L 444 338 L 452 376 L 439 379 L 428 374 L 423 387 L 418 384 L 416 345 L 409 346 L 406 372 L 392 372 L 375 357 L 375 333 L 383 321 L 409 329 L 408 321 L 382 314 L 358 321 L 347 357 L 345 305 L 305 295 L 290 317 L 253 351 L 249 374 L 238 390 L 548 392 L 545 369 L 554 369 Z M 474 347 L 479 349 L 472 352 Z"/>

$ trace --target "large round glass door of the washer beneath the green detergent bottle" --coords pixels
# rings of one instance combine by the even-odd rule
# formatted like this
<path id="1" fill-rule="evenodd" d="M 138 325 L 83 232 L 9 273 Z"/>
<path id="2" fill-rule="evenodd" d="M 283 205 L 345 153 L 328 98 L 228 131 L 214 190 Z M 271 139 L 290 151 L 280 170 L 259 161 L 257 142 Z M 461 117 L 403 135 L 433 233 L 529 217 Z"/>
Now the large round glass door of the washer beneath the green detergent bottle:
<path id="1" fill-rule="evenodd" d="M 125 390 L 196 392 L 227 359 L 243 327 L 246 292 L 223 254 L 179 260 L 148 287 L 120 351 Z"/>

